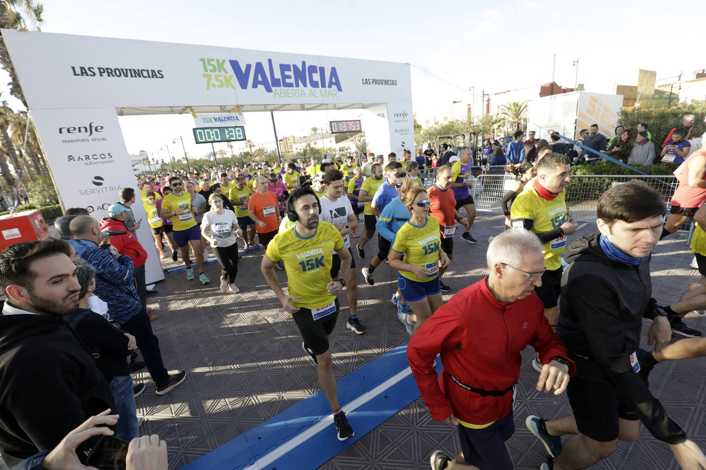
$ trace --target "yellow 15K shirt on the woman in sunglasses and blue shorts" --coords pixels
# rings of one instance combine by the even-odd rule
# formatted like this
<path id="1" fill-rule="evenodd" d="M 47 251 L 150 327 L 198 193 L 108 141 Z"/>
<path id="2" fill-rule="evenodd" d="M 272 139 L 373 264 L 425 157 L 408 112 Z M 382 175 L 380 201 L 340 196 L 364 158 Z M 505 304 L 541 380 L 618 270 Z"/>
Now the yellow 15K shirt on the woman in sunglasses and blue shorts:
<path id="1" fill-rule="evenodd" d="M 418 283 L 436 279 L 439 273 L 439 245 L 441 245 L 441 233 L 436 218 L 427 217 L 426 223 L 421 227 L 409 221 L 405 222 L 405 225 L 397 230 L 393 249 L 395 252 L 405 254 L 405 263 L 424 266 L 431 269 L 432 273 L 426 278 L 419 278 L 408 271 L 400 271 L 400 274 Z"/>

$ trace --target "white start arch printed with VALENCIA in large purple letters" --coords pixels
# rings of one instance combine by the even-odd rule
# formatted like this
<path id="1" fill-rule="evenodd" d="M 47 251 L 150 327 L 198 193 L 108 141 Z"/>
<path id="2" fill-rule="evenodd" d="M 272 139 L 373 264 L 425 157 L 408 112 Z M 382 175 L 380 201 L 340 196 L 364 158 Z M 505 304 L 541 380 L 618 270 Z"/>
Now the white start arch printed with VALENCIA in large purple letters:
<path id="1" fill-rule="evenodd" d="M 414 151 L 405 63 L 2 30 L 61 205 L 107 215 L 134 187 L 118 116 L 363 109 L 366 145 Z M 100 178 L 96 178 L 100 176 Z M 138 192 L 139 194 L 139 192 Z M 136 218 L 146 218 L 142 204 Z M 164 278 L 147 223 L 147 280 Z M 151 248 L 150 248 L 151 247 Z M 152 251 L 150 251 L 152 250 Z"/>

